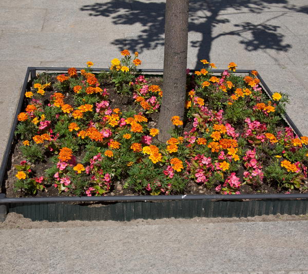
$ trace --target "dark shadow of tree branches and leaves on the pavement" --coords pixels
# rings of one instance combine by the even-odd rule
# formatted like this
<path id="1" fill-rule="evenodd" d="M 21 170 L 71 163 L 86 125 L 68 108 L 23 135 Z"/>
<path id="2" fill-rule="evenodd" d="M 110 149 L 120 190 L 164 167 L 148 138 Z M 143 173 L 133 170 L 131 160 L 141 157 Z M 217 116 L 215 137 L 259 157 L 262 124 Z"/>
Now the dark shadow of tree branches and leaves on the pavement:
<path id="1" fill-rule="evenodd" d="M 111 0 L 107 3 L 84 5 L 82 11 L 89 16 L 111 17 L 115 25 L 139 24 L 143 29 L 138 35 L 128 34 L 125 38 L 115 39 L 112 44 L 119 50 L 124 48 L 142 52 L 145 49 L 156 49 L 164 45 L 165 3 L 147 0 Z M 284 16 L 286 12 L 280 11 L 277 15 L 259 24 L 241 22 L 233 24 L 235 30 L 215 34 L 218 25 L 230 24 L 228 15 L 241 13 L 254 13 L 255 16 L 273 7 L 287 12 L 301 12 L 308 14 L 308 6 L 295 6 L 287 0 L 190 0 L 189 2 L 189 32 L 202 35 L 201 40 L 191 40 L 190 46 L 198 48 L 198 60 L 209 60 L 209 53 L 213 42 L 222 36 L 235 35 L 241 37 L 240 44 L 247 51 L 259 49 L 274 49 L 287 51 L 292 48 L 284 44 L 284 35 L 279 31 L 280 26 L 268 24 L 269 21 Z M 198 66 L 198 65 L 197 65 Z"/>

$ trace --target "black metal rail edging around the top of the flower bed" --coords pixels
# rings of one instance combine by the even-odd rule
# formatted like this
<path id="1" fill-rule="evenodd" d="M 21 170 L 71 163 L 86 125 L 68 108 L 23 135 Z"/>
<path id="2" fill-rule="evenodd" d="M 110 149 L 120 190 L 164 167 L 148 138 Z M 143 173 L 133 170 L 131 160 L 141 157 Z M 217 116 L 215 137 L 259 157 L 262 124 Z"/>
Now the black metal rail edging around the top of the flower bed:
<path id="1" fill-rule="evenodd" d="M 8 144 L 4 153 L 1 169 L 0 169 L 0 180 L 1 185 L 3 183 L 3 177 L 6 171 L 6 165 L 8 161 L 8 157 L 11 150 L 11 145 L 14 138 L 14 131 L 17 124 L 17 116 L 21 111 L 24 94 L 26 91 L 26 87 L 29 81 L 29 75 L 31 75 L 31 80 L 35 77 L 37 70 L 54 70 L 54 71 L 67 71 L 68 68 L 63 67 L 28 67 L 26 72 L 26 77 L 24 80 L 24 84 L 21 90 L 21 96 L 18 101 L 14 121 L 11 127 L 11 132 L 9 135 Z M 76 68 L 77 70 L 81 70 L 84 68 Z M 108 71 L 108 68 L 93 68 L 93 71 Z M 139 72 L 163 72 L 163 69 L 139 69 Z M 191 72 L 196 71 L 195 69 L 191 69 Z M 221 73 L 223 69 L 214 69 L 212 72 Z M 251 73 L 252 70 L 237 70 L 236 73 Z M 269 96 L 272 97 L 273 93 L 268 88 L 268 86 L 264 83 L 263 79 L 260 75 L 258 75 L 260 82 L 263 87 L 266 89 L 266 92 Z M 297 127 L 294 125 L 290 117 L 286 115 L 287 121 L 290 123 L 291 127 L 295 133 L 299 136 L 302 136 Z M 170 196 L 151 196 L 151 195 L 140 195 L 140 196 L 94 196 L 94 197 L 19 197 L 19 198 L 7 198 L 5 194 L 0 193 L 0 204 L 16 204 L 16 203 L 63 203 L 63 202 L 137 202 L 137 201 L 172 201 L 172 200 L 258 200 L 258 199 L 307 199 L 308 193 L 299 193 L 299 194 L 238 194 L 238 195 L 170 195 Z"/>

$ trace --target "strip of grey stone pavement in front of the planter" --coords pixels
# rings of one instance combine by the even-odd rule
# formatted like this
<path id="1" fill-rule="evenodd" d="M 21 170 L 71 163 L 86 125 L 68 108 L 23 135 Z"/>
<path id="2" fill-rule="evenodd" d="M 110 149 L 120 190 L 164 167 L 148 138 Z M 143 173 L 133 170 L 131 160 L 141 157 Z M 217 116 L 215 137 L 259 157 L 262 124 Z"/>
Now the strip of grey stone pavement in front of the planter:
<path id="1" fill-rule="evenodd" d="M 2 230 L 0 267 L 6 273 L 307 273 L 307 225 L 196 222 Z"/>

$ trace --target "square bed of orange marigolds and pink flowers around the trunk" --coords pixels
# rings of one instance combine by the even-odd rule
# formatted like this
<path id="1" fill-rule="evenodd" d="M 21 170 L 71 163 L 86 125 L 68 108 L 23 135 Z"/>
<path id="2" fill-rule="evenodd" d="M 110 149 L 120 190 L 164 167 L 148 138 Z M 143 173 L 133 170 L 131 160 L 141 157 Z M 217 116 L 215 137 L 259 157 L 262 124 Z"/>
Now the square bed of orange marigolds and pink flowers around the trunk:
<path id="1" fill-rule="evenodd" d="M 307 191 L 308 137 L 288 126 L 287 95 L 270 97 L 257 71 L 201 60 L 187 73 L 185 118 L 171 118 L 161 143 L 162 78 L 141 74 L 138 53 L 121 53 L 99 73 L 87 62 L 32 74 L 2 165 L 7 197 Z"/>

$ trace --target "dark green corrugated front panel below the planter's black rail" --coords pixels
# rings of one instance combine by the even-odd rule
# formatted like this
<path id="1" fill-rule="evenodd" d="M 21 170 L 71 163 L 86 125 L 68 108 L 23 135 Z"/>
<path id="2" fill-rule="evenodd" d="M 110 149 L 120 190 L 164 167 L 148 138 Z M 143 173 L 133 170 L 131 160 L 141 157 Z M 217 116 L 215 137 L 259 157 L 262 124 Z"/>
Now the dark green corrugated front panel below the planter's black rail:
<path id="1" fill-rule="evenodd" d="M 138 218 L 248 217 L 269 214 L 307 214 L 308 200 L 119 202 L 99 207 L 63 203 L 10 204 L 9 212 L 33 221 L 130 221 Z"/>

